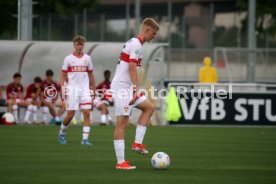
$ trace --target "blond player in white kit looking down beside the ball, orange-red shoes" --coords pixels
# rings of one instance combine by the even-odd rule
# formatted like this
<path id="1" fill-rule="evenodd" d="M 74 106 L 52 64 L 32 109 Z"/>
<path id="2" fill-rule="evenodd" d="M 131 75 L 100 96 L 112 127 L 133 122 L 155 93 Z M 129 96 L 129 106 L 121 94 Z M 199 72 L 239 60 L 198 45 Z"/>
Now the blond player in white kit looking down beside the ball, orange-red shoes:
<path id="1" fill-rule="evenodd" d="M 116 72 L 111 83 L 114 93 L 115 113 L 117 124 L 114 132 L 114 148 L 117 157 L 116 169 L 135 169 L 125 160 L 125 131 L 128 125 L 129 116 L 133 107 L 142 111 L 136 127 L 135 141 L 132 150 L 148 154 L 143 144 L 147 124 L 153 112 L 153 104 L 138 90 L 138 72 L 143 58 L 143 43 L 150 42 L 159 31 L 159 25 L 155 20 L 146 18 L 143 20 L 140 33 L 124 45 Z"/>

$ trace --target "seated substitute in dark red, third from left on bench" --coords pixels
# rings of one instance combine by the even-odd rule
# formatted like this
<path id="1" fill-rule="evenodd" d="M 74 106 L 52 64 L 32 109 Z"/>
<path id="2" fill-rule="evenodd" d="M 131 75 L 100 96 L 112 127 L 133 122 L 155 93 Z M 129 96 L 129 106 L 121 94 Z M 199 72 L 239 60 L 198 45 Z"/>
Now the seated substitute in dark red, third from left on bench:
<path id="1" fill-rule="evenodd" d="M 65 102 L 58 100 L 58 93 L 60 88 L 58 84 L 53 80 L 54 72 L 50 69 L 46 71 L 46 78 L 42 82 L 43 96 L 42 96 L 42 113 L 43 122 L 48 124 L 48 114 L 55 119 L 56 124 L 61 124 L 61 115 L 65 112 Z M 55 106 L 59 107 L 59 111 L 56 113 Z"/>

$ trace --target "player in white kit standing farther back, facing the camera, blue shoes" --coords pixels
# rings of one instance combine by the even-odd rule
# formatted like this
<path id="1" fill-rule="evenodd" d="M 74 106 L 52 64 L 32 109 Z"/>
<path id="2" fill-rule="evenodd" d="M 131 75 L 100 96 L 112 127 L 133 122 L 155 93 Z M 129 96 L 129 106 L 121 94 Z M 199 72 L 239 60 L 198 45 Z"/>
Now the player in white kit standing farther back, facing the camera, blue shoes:
<path id="1" fill-rule="evenodd" d="M 94 97 L 95 94 L 93 64 L 91 57 L 83 53 L 85 38 L 76 36 L 73 39 L 73 44 L 75 50 L 65 57 L 60 75 L 62 93 L 63 89 L 66 88 L 67 115 L 60 127 L 59 142 L 60 144 L 67 143 L 65 138 L 66 129 L 74 117 L 75 111 L 80 108 L 84 117 L 81 144 L 91 145 L 88 137 L 90 133 L 90 109 L 92 108 L 91 96 Z"/>

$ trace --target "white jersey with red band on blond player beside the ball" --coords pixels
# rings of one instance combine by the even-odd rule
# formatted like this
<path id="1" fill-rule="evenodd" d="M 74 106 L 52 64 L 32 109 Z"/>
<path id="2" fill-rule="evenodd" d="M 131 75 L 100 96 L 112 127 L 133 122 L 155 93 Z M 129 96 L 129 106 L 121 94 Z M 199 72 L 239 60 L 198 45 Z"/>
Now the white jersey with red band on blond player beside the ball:
<path id="1" fill-rule="evenodd" d="M 130 39 L 125 43 L 120 59 L 117 64 L 116 72 L 112 82 L 124 82 L 131 85 L 131 79 L 129 75 L 129 62 L 137 64 L 137 73 L 141 67 L 141 61 L 143 59 L 143 46 L 139 37 Z"/>

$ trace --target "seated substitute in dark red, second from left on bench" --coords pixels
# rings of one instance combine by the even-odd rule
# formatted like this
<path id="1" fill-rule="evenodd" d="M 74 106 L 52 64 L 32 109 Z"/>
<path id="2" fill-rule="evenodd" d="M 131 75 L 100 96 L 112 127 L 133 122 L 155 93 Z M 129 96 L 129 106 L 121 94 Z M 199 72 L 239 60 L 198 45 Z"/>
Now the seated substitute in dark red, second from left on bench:
<path id="1" fill-rule="evenodd" d="M 40 77 L 35 77 L 34 82 L 27 88 L 25 100 L 29 103 L 24 122 L 27 124 L 37 123 L 37 109 L 41 106 L 42 97 L 42 80 Z M 33 121 L 30 121 L 30 116 L 33 115 Z"/>

